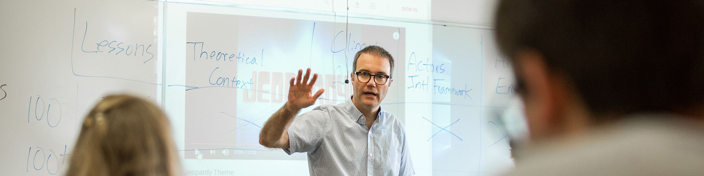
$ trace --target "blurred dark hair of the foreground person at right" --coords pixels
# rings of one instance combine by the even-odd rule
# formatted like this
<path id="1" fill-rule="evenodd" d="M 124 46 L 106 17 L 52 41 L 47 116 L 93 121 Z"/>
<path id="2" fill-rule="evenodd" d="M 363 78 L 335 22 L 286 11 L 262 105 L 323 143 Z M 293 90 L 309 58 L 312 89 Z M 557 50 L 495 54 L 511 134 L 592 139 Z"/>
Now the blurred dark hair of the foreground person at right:
<path id="1" fill-rule="evenodd" d="M 703 4 L 504 0 L 496 38 L 512 63 L 517 51 L 539 52 L 593 115 L 679 112 L 704 104 Z"/>

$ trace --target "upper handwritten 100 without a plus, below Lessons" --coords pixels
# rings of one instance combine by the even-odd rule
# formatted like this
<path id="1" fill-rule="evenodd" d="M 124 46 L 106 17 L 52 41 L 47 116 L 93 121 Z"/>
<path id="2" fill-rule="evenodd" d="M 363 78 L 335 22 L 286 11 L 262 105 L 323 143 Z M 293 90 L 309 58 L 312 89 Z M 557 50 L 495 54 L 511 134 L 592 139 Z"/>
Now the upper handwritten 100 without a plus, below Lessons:
<path id="1" fill-rule="evenodd" d="M 32 106 L 32 103 L 34 103 L 34 106 Z M 54 108 L 51 108 L 51 105 L 54 105 Z M 34 109 L 34 111 L 32 111 L 32 109 Z M 38 113 L 39 109 L 41 109 L 42 113 Z M 61 102 L 59 102 L 58 99 L 49 99 L 49 101 L 44 101 L 42 96 L 37 96 L 36 99 L 34 96 L 30 96 L 30 105 L 29 108 L 27 108 L 27 122 L 30 122 L 32 113 L 34 114 L 34 119 L 37 121 L 41 121 L 44 119 L 44 115 L 46 115 L 46 124 L 48 124 L 49 127 L 58 126 L 61 122 L 61 117 L 63 116 Z"/>

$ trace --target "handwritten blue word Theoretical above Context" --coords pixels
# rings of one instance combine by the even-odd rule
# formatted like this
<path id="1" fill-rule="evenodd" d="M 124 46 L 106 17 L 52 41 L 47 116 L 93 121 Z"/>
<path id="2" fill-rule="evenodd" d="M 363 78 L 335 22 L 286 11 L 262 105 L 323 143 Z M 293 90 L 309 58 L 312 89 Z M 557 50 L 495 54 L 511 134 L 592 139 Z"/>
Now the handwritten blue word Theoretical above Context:
<path id="1" fill-rule="evenodd" d="M 193 61 L 196 61 L 196 58 L 205 58 L 206 61 L 227 61 L 245 63 L 247 65 L 264 65 L 264 49 L 260 51 L 259 58 L 257 58 L 245 56 L 242 52 L 237 52 L 236 55 L 234 52 L 225 53 L 222 51 L 203 51 L 203 48 L 205 48 L 206 45 L 205 42 L 186 42 L 186 44 L 193 44 Z"/>

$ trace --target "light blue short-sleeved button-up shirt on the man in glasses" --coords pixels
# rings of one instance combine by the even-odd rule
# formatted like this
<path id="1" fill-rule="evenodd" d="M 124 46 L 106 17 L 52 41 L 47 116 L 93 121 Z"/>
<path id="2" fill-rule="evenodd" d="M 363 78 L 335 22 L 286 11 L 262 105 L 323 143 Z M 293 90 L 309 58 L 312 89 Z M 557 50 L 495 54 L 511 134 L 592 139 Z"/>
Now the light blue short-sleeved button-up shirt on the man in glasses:
<path id="1" fill-rule="evenodd" d="M 313 176 L 414 175 L 403 123 L 384 110 L 377 116 L 368 129 L 351 99 L 318 106 L 294 118 L 288 130 L 291 148 L 284 151 L 308 152 Z"/>

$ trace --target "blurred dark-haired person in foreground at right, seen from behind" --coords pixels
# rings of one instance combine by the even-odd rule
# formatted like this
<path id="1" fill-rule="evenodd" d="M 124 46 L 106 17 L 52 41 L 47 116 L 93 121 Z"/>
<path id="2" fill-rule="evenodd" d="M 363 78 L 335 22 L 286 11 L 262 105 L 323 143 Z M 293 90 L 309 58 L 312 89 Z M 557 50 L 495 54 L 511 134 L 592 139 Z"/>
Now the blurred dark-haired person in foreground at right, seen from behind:
<path id="1" fill-rule="evenodd" d="M 529 142 L 510 175 L 704 175 L 704 1 L 502 0 Z"/>

